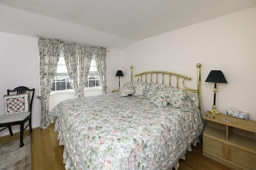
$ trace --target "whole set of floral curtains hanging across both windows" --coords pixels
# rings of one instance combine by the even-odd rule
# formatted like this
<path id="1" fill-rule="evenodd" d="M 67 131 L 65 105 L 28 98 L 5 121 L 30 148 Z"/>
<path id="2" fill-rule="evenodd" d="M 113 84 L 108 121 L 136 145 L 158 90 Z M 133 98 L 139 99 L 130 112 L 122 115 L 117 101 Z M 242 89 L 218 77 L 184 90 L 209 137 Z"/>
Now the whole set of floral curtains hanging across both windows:
<path id="1" fill-rule="evenodd" d="M 63 47 L 63 49 L 62 49 Z M 72 80 L 75 97 L 84 96 L 84 87 L 90 70 L 92 57 L 95 54 L 96 66 L 102 85 L 102 94 L 106 94 L 106 52 L 105 48 L 63 43 L 56 39 L 43 39 L 38 37 L 40 55 L 40 92 L 41 96 L 41 122 L 40 128 L 46 129 L 51 123 L 49 117 L 49 97 L 60 52 L 63 50 L 68 74 Z"/>

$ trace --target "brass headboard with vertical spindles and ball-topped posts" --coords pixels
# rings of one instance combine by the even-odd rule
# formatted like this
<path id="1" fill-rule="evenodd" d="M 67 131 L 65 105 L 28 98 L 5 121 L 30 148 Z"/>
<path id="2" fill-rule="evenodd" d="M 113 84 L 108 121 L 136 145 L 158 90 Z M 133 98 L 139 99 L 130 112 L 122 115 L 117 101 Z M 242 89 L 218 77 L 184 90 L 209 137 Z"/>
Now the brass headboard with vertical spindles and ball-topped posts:
<path id="1" fill-rule="evenodd" d="M 164 78 L 165 78 L 165 75 L 168 75 L 168 85 L 169 86 L 172 86 L 172 76 L 176 76 L 176 88 L 180 88 L 179 87 L 179 80 L 180 78 L 183 79 L 182 81 L 182 84 L 183 84 L 183 88 L 181 88 L 182 90 L 187 90 L 187 91 L 190 91 L 190 92 L 195 92 L 197 93 L 198 95 L 198 107 L 200 109 L 201 107 L 201 98 L 200 98 L 200 93 L 201 93 L 201 66 L 202 64 L 201 63 L 197 63 L 196 64 L 197 66 L 197 89 L 192 89 L 192 88 L 188 88 L 186 87 L 185 85 L 185 80 L 191 80 L 190 77 L 187 77 L 187 76 L 183 76 L 181 74 L 176 74 L 176 73 L 173 73 L 173 72 L 166 72 L 166 71 L 147 71 L 147 72 L 141 72 L 139 74 L 135 74 L 134 76 L 137 77 L 137 81 L 141 81 L 142 80 L 144 82 L 148 82 L 147 81 L 147 75 L 149 74 L 150 75 L 150 82 L 152 82 L 152 78 L 153 76 L 156 78 L 155 82 L 158 83 L 158 75 L 162 75 L 162 84 L 164 84 Z M 144 80 L 144 79 L 145 80 Z M 133 81 L 133 66 L 131 66 L 131 81 Z"/>

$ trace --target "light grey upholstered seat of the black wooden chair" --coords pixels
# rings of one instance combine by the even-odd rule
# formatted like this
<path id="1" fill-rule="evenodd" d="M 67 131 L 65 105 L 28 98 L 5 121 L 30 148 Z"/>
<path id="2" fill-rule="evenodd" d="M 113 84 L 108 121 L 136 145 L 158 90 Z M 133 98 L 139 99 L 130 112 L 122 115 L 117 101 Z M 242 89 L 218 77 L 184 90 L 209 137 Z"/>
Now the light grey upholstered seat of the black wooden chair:
<path id="1" fill-rule="evenodd" d="M 22 121 L 30 115 L 30 112 L 12 113 L 0 115 L 0 123 L 10 123 L 15 121 Z"/>

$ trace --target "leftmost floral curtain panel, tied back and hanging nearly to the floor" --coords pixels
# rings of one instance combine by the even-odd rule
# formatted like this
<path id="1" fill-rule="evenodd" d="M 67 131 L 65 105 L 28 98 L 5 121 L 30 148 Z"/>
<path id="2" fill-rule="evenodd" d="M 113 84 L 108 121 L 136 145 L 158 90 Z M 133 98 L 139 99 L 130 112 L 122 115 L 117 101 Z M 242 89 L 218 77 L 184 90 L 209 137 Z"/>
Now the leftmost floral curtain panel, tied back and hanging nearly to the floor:
<path id="1" fill-rule="evenodd" d="M 62 42 L 56 39 L 43 39 L 38 37 L 40 55 L 40 90 L 41 96 L 41 122 L 40 128 L 46 129 L 50 125 L 49 97 L 52 89 L 54 75 L 57 69 Z"/>

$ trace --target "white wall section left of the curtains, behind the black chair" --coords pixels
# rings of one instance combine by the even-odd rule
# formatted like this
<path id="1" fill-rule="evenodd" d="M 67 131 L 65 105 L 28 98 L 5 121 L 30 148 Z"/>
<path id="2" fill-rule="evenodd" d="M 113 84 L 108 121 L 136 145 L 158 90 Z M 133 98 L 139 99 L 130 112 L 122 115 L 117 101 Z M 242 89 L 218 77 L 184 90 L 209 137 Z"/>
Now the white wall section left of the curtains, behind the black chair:
<path id="1" fill-rule="evenodd" d="M 36 98 L 39 94 L 39 53 L 37 39 L 22 35 L 0 32 L 0 96 L 7 94 L 7 89 L 18 86 L 35 88 L 32 106 L 32 127 L 40 125 L 41 104 Z M 0 114 L 4 114 L 4 98 L 0 97 Z M 20 126 L 12 126 L 12 131 L 19 131 Z M 8 129 L 0 133 L 9 134 Z"/>

